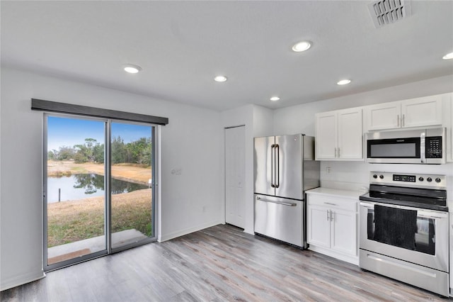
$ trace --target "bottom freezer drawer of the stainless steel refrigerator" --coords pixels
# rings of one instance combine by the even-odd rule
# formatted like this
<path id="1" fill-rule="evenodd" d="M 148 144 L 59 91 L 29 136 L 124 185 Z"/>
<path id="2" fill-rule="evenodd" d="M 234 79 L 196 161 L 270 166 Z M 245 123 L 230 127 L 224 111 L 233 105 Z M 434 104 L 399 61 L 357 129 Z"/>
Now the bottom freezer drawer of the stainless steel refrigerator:
<path id="1" fill-rule="evenodd" d="M 255 233 L 304 247 L 304 201 L 255 194 Z"/>

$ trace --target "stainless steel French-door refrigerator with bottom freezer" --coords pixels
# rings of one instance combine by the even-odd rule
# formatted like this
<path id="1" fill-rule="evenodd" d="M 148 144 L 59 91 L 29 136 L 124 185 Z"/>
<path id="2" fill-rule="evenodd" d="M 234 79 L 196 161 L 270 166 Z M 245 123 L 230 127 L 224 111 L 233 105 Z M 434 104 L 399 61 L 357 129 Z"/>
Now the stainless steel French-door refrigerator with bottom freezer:
<path id="1" fill-rule="evenodd" d="M 254 231 L 306 248 L 305 191 L 319 186 L 314 137 L 254 139 Z"/>

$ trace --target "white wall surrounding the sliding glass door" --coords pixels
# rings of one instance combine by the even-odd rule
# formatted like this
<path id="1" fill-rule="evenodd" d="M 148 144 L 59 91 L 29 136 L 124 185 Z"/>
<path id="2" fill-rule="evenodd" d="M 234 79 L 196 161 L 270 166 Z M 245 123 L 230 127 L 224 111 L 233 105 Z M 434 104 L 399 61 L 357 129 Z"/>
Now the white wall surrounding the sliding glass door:
<path id="1" fill-rule="evenodd" d="M 4 67 L 1 88 L 2 290 L 42 276 L 42 112 L 30 110 L 31 98 L 168 117 L 159 239 L 222 223 L 220 113 Z"/>

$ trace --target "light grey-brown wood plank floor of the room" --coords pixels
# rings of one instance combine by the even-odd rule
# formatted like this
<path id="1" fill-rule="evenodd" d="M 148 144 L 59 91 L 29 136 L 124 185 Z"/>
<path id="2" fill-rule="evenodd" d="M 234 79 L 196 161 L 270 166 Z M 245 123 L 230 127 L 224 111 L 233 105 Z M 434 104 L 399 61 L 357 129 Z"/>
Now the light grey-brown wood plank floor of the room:
<path id="1" fill-rule="evenodd" d="M 231 225 L 59 269 L 1 292 L 1 301 L 447 300 Z"/>

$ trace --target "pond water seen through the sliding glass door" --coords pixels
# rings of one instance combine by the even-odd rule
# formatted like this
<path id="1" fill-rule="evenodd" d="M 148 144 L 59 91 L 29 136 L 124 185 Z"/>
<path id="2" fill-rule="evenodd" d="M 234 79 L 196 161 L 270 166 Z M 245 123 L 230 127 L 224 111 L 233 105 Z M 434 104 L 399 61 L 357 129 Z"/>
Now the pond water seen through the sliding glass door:
<path id="1" fill-rule="evenodd" d="M 147 189 L 144 184 L 135 184 L 112 179 L 112 194 L 128 193 Z M 104 196 L 104 177 L 98 174 L 73 174 L 69 177 L 47 177 L 47 203 Z"/>

